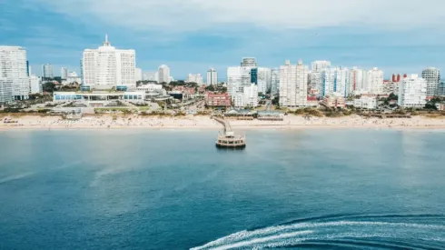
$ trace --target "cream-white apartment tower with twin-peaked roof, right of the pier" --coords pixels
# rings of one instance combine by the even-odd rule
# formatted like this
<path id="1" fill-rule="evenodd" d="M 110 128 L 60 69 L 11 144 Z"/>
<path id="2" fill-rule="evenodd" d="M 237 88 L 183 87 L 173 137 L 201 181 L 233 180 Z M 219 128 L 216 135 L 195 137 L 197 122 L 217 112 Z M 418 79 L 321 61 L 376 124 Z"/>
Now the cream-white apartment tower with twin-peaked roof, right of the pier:
<path id="1" fill-rule="evenodd" d="M 299 107 L 307 104 L 309 68 L 303 65 L 291 65 L 286 61 L 280 67 L 280 105 L 284 107 Z"/>

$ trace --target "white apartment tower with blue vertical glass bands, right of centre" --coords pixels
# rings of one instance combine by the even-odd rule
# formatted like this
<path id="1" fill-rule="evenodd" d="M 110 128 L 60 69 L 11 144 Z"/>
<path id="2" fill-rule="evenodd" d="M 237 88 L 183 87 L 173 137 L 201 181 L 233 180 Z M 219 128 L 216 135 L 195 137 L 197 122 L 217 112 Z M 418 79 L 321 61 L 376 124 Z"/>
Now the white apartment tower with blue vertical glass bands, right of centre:
<path id="1" fill-rule="evenodd" d="M 346 97 L 349 94 L 349 70 L 341 67 L 328 67 L 321 73 L 321 96 L 338 94 Z"/>

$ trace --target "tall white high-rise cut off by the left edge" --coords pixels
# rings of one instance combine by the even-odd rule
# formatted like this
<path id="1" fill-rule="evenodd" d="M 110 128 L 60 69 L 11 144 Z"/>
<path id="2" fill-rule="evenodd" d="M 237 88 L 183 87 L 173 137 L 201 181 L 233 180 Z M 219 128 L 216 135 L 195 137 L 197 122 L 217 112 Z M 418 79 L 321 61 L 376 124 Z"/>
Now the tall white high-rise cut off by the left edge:
<path id="1" fill-rule="evenodd" d="M 26 50 L 19 46 L 0 46 L 0 102 L 29 97 Z"/>

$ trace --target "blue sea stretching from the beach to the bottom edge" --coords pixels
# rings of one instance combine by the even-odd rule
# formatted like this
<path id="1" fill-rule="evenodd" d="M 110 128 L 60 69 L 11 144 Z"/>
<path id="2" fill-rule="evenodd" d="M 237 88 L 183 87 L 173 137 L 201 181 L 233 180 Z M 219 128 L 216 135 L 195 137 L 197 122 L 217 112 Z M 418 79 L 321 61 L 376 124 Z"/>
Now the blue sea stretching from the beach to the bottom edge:
<path id="1" fill-rule="evenodd" d="M 0 249 L 444 249 L 443 131 L 0 134 Z"/>

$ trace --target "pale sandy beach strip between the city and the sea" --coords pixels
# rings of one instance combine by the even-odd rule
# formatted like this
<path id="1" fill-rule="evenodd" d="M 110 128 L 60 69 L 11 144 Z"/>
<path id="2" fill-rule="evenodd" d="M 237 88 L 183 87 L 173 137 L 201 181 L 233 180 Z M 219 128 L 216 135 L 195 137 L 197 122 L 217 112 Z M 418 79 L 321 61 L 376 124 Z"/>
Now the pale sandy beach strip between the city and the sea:
<path id="1" fill-rule="evenodd" d="M 187 115 L 183 117 L 156 117 L 129 115 L 84 116 L 80 120 L 65 120 L 61 116 L 26 115 L 12 117 L 16 123 L 0 124 L 0 130 L 28 129 L 222 129 L 222 125 L 209 116 Z M 302 129 L 302 128 L 410 128 L 410 129 L 445 129 L 445 118 L 413 116 L 412 118 L 362 118 L 358 115 L 339 118 L 312 117 L 306 120 L 302 116 L 286 115 L 284 121 L 231 121 L 232 129 Z"/>

